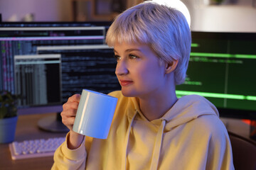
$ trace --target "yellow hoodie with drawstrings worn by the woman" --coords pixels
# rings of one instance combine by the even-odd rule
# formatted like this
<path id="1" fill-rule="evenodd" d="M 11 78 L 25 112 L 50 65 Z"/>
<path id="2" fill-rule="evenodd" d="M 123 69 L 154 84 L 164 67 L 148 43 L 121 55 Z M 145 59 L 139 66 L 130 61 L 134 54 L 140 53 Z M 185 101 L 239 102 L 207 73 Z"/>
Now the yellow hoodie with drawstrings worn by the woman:
<path id="1" fill-rule="evenodd" d="M 183 96 L 149 121 L 137 98 L 110 95 L 118 102 L 107 140 L 85 137 L 75 150 L 64 142 L 52 169 L 234 169 L 228 132 L 206 98 Z"/>

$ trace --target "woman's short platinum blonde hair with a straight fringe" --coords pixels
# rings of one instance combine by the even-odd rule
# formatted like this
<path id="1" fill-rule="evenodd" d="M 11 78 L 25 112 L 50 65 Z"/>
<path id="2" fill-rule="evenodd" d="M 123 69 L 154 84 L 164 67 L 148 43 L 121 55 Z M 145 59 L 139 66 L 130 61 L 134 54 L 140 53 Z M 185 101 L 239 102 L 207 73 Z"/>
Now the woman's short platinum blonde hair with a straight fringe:
<path id="1" fill-rule="evenodd" d="M 185 16 L 175 8 L 154 2 L 127 9 L 115 18 L 107 31 L 107 45 L 139 42 L 149 45 L 161 62 L 178 60 L 175 84 L 186 78 L 191 52 L 191 30 Z"/>

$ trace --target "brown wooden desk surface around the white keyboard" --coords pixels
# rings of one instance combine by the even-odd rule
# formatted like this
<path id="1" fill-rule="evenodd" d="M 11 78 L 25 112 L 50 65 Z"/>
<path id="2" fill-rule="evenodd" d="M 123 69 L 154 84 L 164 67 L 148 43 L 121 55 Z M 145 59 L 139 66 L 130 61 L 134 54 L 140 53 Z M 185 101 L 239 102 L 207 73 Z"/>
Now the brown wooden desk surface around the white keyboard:
<path id="1" fill-rule="evenodd" d="M 46 132 L 39 130 L 37 127 L 38 120 L 41 118 L 53 115 L 55 113 L 37 114 L 37 115 L 20 115 L 16 127 L 15 141 L 23 140 L 47 139 L 49 137 L 65 137 L 66 133 Z M 12 160 L 9 151 L 9 144 L 0 144 L 0 169 L 50 169 L 53 165 L 53 157 L 42 157 L 33 159 Z"/>

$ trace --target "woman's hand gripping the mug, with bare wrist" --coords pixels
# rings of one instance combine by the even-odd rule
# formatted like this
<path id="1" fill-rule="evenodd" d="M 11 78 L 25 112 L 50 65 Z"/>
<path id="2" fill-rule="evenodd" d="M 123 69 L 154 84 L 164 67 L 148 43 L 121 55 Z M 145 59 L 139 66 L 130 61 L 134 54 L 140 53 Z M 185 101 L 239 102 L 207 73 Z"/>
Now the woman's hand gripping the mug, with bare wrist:
<path id="1" fill-rule="evenodd" d="M 80 135 L 73 131 L 73 125 L 75 122 L 75 115 L 78 111 L 78 104 L 80 101 L 80 94 L 74 94 L 68 101 L 63 104 L 63 111 L 60 113 L 63 124 L 70 130 L 68 136 L 68 148 L 76 149 L 80 147 L 83 139 L 83 135 Z"/>

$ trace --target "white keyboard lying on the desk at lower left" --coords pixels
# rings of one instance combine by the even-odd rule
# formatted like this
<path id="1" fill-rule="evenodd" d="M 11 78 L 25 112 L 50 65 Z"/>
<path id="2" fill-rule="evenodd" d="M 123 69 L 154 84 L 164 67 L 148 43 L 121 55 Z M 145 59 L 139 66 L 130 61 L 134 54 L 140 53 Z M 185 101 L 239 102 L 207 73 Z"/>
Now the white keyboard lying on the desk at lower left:
<path id="1" fill-rule="evenodd" d="M 53 156 L 55 149 L 65 141 L 65 137 L 49 138 L 48 140 L 24 140 L 9 144 L 11 159 L 27 159 Z"/>

